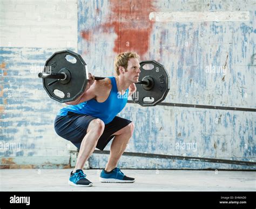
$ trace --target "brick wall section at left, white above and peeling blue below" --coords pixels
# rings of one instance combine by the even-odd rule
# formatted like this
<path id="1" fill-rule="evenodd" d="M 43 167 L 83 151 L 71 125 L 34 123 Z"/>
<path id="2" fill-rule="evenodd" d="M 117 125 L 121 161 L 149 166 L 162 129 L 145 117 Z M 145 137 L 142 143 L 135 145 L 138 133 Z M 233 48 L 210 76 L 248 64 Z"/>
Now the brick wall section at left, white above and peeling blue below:
<path id="1" fill-rule="evenodd" d="M 0 2 L 1 167 L 67 167 L 72 145 L 53 129 L 54 102 L 37 78 L 53 52 L 77 50 L 77 1 Z"/>

